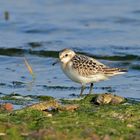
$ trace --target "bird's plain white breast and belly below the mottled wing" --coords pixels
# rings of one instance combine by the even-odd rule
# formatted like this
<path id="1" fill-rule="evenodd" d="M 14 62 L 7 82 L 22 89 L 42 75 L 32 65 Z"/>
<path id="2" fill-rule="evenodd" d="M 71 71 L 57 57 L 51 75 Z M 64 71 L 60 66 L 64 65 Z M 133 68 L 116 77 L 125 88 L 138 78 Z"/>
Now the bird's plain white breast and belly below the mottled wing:
<path id="1" fill-rule="evenodd" d="M 63 72 L 73 81 L 77 82 L 77 83 L 81 83 L 83 85 L 87 84 L 87 83 L 94 83 L 94 82 L 98 82 L 101 80 L 105 80 L 107 79 L 104 75 L 102 74 L 96 74 L 96 75 L 91 75 L 88 77 L 85 76 L 81 76 L 78 74 L 77 71 L 75 71 L 74 69 L 72 69 L 72 67 L 67 66 L 65 67 L 65 65 L 61 64 L 61 68 L 63 70 Z"/>

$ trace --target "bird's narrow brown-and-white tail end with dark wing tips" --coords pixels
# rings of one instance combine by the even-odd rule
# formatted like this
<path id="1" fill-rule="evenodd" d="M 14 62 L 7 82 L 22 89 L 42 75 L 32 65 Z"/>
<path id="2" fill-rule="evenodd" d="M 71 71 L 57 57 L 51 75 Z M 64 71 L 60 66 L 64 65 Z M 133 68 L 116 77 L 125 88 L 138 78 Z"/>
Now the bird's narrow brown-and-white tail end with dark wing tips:
<path id="1" fill-rule="evenodd" d="M 124 68 L 104 68 L 104 74 L 108 76 L 114 76 L 114 75 L 119 75 L 119 74 L 124 74 L 128 70 Z"/>

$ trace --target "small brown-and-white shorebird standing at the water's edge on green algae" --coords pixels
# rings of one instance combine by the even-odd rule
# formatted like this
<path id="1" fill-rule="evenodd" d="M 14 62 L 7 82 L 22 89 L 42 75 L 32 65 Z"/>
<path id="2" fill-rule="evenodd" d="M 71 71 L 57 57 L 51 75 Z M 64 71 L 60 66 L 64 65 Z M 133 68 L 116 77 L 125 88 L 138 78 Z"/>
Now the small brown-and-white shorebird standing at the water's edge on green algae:
<path id="1" fill-rule="evenodd" d="M 90 83 L 89 94 L 92 92 L 93 83 L 123 74 L 127 70 L 122 68 L 110 68 L 94 58 L 77 54 L 71 49 L 64 49 L 59 53 L 59 59 L 63 72 L 73 81 L 82 85 L 80 96 L 86 84 Z"/>

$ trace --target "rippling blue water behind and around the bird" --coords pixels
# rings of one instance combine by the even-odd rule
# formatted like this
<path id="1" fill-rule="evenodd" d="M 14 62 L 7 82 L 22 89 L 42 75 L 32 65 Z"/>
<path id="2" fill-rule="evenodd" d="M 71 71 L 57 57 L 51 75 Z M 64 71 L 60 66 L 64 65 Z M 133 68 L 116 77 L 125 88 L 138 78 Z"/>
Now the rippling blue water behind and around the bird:
<path id="1" fill-rule="evenodd" d="M 139 0 L 1 0 L 1 96 L 78 95 L 80 85 L 69 80 L 59 65 L 52 66 L 59 50 L 72 48 L 109 66 L 129 69 L 124 75 L 96 83 L 95 93 L 140 99 L 139 6 Z M 4 19 L 5 11 L 9 20 Z M 32 83 L 24 57 L 36 74 Z"/>

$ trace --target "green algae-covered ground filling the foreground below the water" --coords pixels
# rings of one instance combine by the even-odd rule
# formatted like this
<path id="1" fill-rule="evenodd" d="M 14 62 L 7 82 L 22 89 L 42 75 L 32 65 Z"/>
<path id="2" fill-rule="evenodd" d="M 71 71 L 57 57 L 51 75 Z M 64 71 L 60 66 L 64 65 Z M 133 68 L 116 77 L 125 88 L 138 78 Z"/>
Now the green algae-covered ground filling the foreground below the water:
<path id="1" fill-rule="evenodd" d="M 0 113 L 0 139 L 74 139 L 137 140 L 140 137 L 140 103 L 95 105 L 97 95 L 81 100 L 61 100 L 62 104 L 78 104 L 75 111 L 39 111 L 25 108 Z M 49 117 L 48 113 L 52 116 Z"/>

